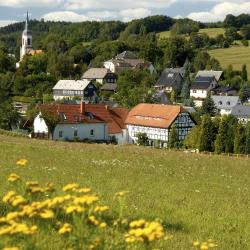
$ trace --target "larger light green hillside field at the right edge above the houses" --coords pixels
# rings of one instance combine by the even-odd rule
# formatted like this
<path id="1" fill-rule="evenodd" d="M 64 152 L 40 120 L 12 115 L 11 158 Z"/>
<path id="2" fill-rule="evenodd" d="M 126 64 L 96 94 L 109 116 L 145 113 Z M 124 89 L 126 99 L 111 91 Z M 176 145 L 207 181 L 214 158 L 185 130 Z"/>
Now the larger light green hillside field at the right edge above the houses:
<path id="1" fill-rule="evenodd" d="M 210 50 L 209 53 L 219 60 L 223 68 L 232 64 L 235 70 L 241 70 L 242 65 L 246 64 L 248 77 L 250 77 L 250 47 L 239 45 L 227 49 Z"/>

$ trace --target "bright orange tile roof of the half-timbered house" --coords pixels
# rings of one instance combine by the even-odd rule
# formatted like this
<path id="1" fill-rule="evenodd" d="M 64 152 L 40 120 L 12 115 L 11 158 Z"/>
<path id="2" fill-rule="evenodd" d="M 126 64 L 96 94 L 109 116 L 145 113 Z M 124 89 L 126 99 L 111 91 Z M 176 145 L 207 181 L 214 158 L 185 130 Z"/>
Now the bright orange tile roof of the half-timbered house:
<path id="1" fill-rule="evenodd" d="M 180 113 L 187 112 L 178 105 L 141 103 L 128 114 L 126 124 L 145 127 L 169 128 Z"/>

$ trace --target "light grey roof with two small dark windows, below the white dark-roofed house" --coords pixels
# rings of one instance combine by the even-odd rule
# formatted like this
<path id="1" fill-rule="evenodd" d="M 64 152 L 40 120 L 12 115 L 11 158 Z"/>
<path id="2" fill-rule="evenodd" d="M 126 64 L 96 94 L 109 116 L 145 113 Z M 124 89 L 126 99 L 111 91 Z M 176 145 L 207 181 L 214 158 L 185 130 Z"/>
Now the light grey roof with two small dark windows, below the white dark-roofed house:
<path id="1" fill-rule="evenodd" d="M 241 104 L 239 96 L 212 95 L 211 98 L 217 109 L 232 109 Z"/>

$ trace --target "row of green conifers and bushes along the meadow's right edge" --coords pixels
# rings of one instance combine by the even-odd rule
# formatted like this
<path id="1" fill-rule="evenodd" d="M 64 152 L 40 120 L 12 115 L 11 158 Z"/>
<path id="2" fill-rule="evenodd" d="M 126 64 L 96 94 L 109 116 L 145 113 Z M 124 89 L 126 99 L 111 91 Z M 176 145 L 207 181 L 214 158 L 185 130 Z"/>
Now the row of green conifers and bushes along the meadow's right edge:
<path id="1" fill-rule="evenodd" d="M 204 115 L 184 145 L 200 152 L 250 154 L 250 122 L 243 124 L 232 115 Z"/>

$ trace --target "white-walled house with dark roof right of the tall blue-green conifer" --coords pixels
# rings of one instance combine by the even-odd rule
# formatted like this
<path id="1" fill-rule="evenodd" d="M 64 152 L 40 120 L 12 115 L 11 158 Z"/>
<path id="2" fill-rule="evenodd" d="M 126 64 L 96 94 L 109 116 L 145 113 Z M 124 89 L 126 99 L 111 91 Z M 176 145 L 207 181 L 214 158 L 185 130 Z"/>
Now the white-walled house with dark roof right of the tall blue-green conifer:
<path id="1" fill-rule="evenodd" d="M 190 97 L 194 98 L 196 106 L 201 106 L 203 100 L 207 98 L 211 90 L 217 87 L 217 81 L 214 76 L 198 76 L 190 88 Z"/>

